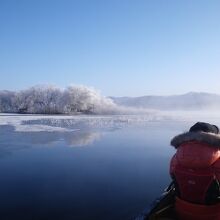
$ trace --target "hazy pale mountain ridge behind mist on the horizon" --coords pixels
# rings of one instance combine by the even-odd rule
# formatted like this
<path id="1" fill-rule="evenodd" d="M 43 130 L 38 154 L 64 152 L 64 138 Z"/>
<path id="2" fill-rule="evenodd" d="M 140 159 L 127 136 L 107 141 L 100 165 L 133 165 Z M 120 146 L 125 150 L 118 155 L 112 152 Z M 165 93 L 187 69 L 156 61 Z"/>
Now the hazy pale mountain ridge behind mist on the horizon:
<path id="1" fill-rule="evenodd" d="M 116 104 L 158 110 L 201 110 L 220 108 L 220 95 L 189 92 L 171 96 L 110 97 Z"/>

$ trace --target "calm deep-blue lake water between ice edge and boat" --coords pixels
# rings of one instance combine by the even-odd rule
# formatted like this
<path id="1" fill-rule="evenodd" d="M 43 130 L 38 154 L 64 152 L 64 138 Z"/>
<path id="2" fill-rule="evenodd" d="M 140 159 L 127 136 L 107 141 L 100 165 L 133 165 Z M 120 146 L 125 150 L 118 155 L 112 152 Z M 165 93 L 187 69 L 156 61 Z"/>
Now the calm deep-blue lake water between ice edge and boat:
<path id="1" fill-rule="evenodd" d="M 131 219 L 169 184 L 170 139 L 190 123 L 74 132 L 0 126 L 0 219 Z"/>

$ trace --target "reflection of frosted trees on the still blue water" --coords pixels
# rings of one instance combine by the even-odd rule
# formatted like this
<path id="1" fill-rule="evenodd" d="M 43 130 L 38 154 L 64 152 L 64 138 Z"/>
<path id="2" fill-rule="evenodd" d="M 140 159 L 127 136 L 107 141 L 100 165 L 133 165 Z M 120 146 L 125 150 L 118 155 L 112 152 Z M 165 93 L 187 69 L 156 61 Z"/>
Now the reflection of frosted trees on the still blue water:
<path id="1" fill-rule="evenodd" d="M 52 146 L 63 141 L 69 147 L 92 145 L 101 138 L 99 131 L 77 130 L 69 132 L 19 132 L 14 126 L 0 126 L 0 158 L 11 155 L 13 151 L 34 146 Z"/>

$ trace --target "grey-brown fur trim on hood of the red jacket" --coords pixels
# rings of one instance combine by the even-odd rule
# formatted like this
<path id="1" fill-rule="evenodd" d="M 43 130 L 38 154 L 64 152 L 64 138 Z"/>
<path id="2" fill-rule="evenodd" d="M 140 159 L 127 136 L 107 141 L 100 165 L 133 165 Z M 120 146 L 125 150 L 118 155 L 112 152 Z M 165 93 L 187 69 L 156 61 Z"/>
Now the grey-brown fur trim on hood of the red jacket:
<path id="1" fill-rule="evenodd" d="M 186 132 L 175 136 L 170 144 L 178 148 L 184 142 L 198 141 L 209 144 L 215 148 L 220 148 L 220 134 L 207 133 L 207 132 Z"/>

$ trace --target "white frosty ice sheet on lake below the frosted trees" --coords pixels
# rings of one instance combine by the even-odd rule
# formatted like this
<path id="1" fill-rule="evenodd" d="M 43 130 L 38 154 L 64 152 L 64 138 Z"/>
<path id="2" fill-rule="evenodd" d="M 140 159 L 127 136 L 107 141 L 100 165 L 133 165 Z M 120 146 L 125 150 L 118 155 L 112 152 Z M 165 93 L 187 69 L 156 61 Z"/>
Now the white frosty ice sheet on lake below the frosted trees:
<path id="1" fill-rule="evenodd" d="M 20 132 L 66 132 L 88 129 L 115 129 L 164 119 L 166 117 L 158 114 L 108 116 L 0 114 L 0 125 L 13 126 L 16 131 Z"/>

